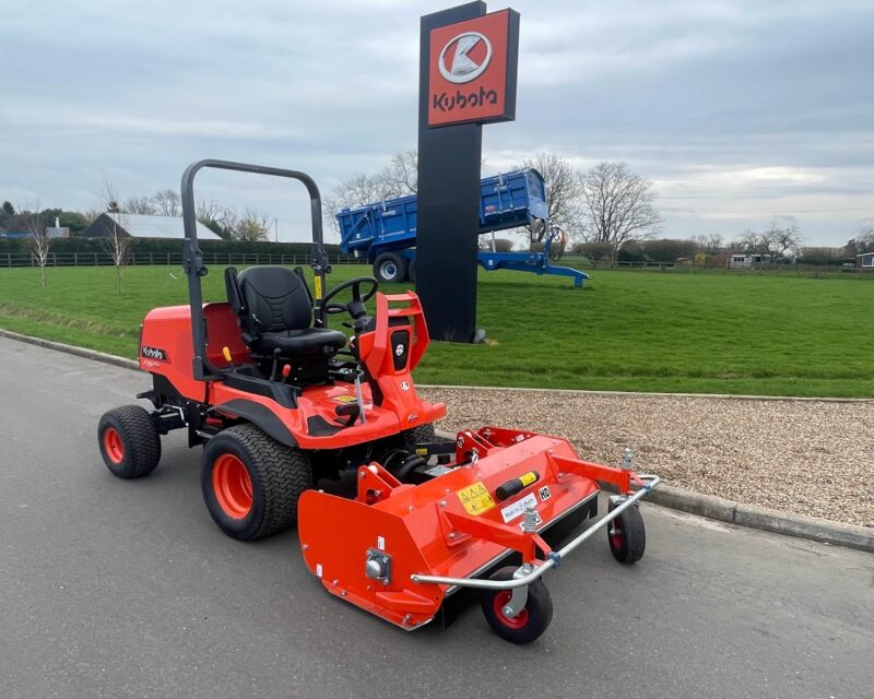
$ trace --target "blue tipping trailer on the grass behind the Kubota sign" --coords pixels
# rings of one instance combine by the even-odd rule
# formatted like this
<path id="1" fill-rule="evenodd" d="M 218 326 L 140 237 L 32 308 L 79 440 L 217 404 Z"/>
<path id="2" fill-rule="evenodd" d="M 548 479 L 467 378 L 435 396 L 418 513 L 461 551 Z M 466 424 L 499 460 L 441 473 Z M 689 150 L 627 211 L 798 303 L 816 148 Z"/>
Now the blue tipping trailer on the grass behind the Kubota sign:
<path id="1" fill-rule="evenodd" d="M 415 281 L 416 245 L 415 194 L 343 209 L 336 214 L 340 247 L 343 252 L 366 257 L 380 282 Z M 480 235 L 528 226 L 544 240 L 542 252 L 495 252 L 481 250 L 480 265 L 487 271 L 516 270 L 534 274 L 569 276 L 574 286 L 590 279 L 584 272 L 550 263 L 564 234 L 547 224 L 546 191 L 543 176 L 535 169 L 515 170 L 480 182 Z M 558 256 L 553 256 L 558 257 Z"/>

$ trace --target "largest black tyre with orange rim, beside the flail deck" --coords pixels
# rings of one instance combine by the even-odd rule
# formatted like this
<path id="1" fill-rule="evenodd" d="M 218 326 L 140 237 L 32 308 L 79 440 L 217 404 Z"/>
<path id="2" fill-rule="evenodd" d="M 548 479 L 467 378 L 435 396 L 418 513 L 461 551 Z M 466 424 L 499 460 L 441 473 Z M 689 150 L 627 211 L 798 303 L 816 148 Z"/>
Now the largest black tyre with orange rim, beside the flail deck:
<path id="1" fill-rule="evenodd" d="M 206 442 L 200 487 L 222 531 L 250 541 L 295 523 L 297 499 L 312 487 L 312 465 L 255 425 L 236 425 Z"/>

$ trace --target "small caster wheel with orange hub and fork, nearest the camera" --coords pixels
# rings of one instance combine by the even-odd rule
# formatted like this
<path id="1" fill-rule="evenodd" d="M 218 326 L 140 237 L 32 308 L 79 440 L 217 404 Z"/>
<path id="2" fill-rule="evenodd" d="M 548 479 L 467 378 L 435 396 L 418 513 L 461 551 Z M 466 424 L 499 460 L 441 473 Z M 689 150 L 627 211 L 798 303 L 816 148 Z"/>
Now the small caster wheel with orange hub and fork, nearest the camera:
<path id="1" fill-rule="evenodd" d="M 512 580 L 516 568 L 501 568 L 492 580 Z M 538 640 L 553 620 L 553 600 L 542 580 L 528 585 L 528 602 L 516 617 L 504 615 L 504 606 L 510 601 L 510 590 L 484 590 L 483 615 L 492 630 L 511 643 L 531 643 Z"/>

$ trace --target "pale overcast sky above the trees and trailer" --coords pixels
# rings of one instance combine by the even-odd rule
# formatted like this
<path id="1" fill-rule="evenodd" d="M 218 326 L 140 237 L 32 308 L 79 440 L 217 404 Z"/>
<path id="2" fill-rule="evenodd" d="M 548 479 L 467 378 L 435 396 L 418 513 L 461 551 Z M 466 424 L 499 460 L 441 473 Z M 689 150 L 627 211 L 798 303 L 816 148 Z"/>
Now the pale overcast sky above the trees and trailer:
<path id="1" fill-rule="evenodd" d="M 0 0 L 0 199 L 95 208 L 178 188 L 202 157 L 303 169 L 323 192 L 415 147 L 418 16 L 451 2 Z M 489 10 L 508 7 L 489 4 Z M 653 180 L 664 235 L 796 223 L 842 245 L 874 217 L 874 2 L 517 0 L 517 120 L 486 174 L 541 151 Z M 210 174 L 199 196 L 277 216 L 300 194 Z"/>

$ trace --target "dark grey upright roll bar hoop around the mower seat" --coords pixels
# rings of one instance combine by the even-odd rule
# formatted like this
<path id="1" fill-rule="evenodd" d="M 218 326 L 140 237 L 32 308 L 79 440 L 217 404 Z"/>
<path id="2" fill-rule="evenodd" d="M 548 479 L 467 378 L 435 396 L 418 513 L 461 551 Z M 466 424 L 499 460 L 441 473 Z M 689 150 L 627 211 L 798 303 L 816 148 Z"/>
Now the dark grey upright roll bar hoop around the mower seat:
<path id="1" fill-rule="evenodd" d="M 273 175 L 296 179 L 309 192 L 310 213 L 312 217 L 312 248 L 310 252 L 310 266 L 316 273 L 316 324 L 324 322 L 321 313 L 322 291 L 327 287 L 326 274 L 331 271 L 328 254 L 324 252 L 324 239 L 321 227 L 321 194 L 314 179 L 305 173 L 286 170 L 279 167 L 249 165 L 247 163 L 233 163 L 231 161 L 205 159 L 189 165 L 182 173 L 182 224 L 185 226 L 185 241 L 182 244 L 182 268 L 188 276 L 188 300 L 191 305 L 191 336 L 194 344 L 194 378 L 210 380 L 227 374 L 226 369 L 214 366 L 206 356 L 206 336 L 203 321 L 203 295 L 200 287 L 200 277 L 206 275 L 206 265 L 203 253 L 198 246 L 198 221 L 194 208 L 194 176 L 204 167 L 220 170 L 234 170 L 237 173 L 253 173 L 256 175 Z"/>

